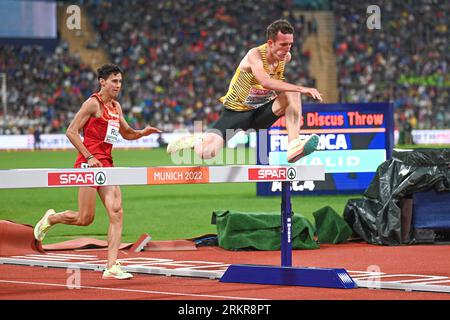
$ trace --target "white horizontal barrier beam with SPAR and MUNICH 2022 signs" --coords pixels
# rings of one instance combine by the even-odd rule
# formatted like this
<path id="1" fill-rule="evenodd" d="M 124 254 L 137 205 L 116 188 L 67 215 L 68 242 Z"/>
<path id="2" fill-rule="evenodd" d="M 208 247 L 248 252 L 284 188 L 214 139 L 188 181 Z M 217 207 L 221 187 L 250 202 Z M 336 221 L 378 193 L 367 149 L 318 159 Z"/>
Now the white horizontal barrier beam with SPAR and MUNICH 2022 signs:
<path id="1" fill-rule="evenodd" d="M 0 170 L 0 189 L 325 180 L 323 166 L 166 166 Z"/>

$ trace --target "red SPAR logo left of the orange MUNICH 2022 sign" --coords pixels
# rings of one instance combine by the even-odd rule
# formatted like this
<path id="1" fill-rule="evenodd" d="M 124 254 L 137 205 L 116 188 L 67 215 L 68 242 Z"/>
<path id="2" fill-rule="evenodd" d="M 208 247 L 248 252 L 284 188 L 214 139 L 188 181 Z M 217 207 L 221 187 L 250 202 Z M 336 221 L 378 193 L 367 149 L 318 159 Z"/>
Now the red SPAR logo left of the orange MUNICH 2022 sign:
<path id="1" fill-rule="evenodd" d="M 98 172 L 49 172 L 49 186 L 92 186 L 104 185 L 106 173 Z"/>

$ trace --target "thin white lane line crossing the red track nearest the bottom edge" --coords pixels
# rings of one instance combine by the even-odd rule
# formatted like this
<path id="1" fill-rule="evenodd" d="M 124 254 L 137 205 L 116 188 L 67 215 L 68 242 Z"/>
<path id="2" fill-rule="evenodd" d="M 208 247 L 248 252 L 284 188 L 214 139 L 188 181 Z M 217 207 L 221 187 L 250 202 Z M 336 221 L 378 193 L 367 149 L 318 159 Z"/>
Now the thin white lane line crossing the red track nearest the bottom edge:
<path id="1" fill-rule="evenodd" d="M 65 287 L 65 288 L 67 288 L 67 285 L 65 285 L 65 284 L 46 283 L 46 282 L 13 281 L 13 280 L 0 280 L 0 282 L 13 283 L 13 284 L 24 284 L 24 285 L 38 285 L 38 286 Z M 262 298 L 260 299 L 260 298 L 248 298 L 248 297 L 217 296 L 217 295 L 196 294 L 196 293 L 175 293 L 175 292 L 164 292 L 164 291 L 148 291 L 148 290 L 136 290 L 136 289 L 92 287 L 92 286 L 81 286 L 81 285 L 80 285 L 80 288 L 82 288 L 82 289 L 105 290 L 105 291 L 163 294 L 163 295 L 169 295 L 169 296 L 200 297 L 200 298 L 218 298 L 218 299 L 232 299 L 232 300 L 268 300 L 268 299 L 262 299 Z"/>

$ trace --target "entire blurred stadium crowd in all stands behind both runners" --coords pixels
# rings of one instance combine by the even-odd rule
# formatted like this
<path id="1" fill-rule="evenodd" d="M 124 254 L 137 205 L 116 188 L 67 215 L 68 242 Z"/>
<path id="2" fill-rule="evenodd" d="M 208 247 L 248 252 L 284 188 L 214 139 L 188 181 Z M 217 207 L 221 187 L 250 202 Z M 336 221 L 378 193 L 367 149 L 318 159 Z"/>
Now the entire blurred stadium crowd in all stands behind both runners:
<path id="1" fill-rule="evenodd" d="M 71 4 L 76 1 L 71 1 Z M 297 2 L 271 0 L 80 1 L 99 43 L 124 71 L 120 102 L 136 128 L 164 131 L 207 124 L 219 116 L 218 98 L 246 50 L 265 41 L 265 27 L 280 17 L 297 31 L 287 79 L 314 86 L 308 74 L 308 36 Z M 397 125 L 447 128 L 449 108 L 449 4 L 445 1 L 373 1 L 382 30 L 366 26 L 366 4 L 333 1 L 335 52 L 342 102 L 390 101 Z M 145 9 L 144 9 L 145 8 Z M 295 16 L 294 16 L 295 14 Z M 95 17 L 95 18 L 94 18 Z M 8 128 L 1 133 L 64 132 L 97 90 L 95 70 L 60 40 L 54 53 L 39 47 L 2 46 L 0 73 L 8 77 Z M 1 117 L 0 117 L 1 118 Z"/>

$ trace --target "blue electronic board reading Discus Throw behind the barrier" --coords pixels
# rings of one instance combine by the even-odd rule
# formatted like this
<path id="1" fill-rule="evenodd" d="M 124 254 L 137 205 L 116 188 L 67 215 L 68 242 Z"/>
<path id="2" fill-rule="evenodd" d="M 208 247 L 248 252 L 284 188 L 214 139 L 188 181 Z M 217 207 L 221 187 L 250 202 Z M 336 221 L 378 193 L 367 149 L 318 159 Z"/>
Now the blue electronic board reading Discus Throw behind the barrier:
<path id="1" fill-rule="evenodd" d="M 287 165 L 285 118 L 258 135 L 257 163 Z M 297 181 L 293 193 L 352 193 L 364 191 L 378 166 L 394 146 L 393 107 L 389 103 L 305 104 L 300 138 L 317 134 L 318 150 L 295 164 L 324 165 L 325 181 Z M 281 192 L 281 182 L 258 182 L 257 195 Z"/>

